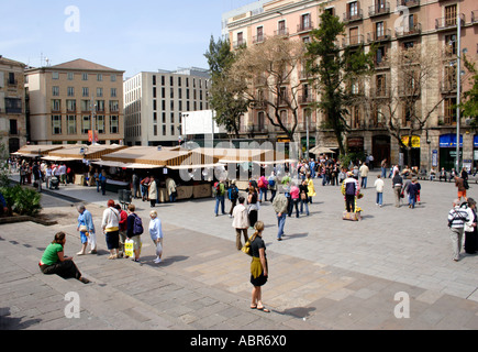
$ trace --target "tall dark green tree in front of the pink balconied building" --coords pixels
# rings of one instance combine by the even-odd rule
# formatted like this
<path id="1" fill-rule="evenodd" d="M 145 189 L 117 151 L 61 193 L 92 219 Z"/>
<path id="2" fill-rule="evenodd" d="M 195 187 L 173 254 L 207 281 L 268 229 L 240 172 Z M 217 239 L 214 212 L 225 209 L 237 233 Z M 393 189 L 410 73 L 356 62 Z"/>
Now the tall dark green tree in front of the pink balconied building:
<path id="1" fill-rule="evenodd" d="M 355 50 L 341 50 L 336 44 L 340 35 L 344 35 L 344 24 L 324 11 L 319 29 L 312 31 L 312 41 L 307 44 L 307 69 L 320 91 L 316 108 L 325 116 L 322 127 L 333 130 L 340 154 L 345 155 L 343 139 L 349 131 L 346 107 L 353 99 L 346 88 L 370 74 L 373 50 L 366 54 L 363 44 Z"/>

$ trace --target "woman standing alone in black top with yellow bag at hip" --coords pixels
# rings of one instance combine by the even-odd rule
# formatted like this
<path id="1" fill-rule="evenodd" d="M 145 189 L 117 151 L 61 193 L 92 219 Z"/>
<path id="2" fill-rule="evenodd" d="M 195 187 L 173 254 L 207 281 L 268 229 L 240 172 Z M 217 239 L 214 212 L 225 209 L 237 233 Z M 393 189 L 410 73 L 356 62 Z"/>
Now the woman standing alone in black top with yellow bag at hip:
<path id="1" fill-rule="evenodd" d="M 253 284 L 251 309 L 270 312 L 269 309 L 263 305 L 263 289 L 262 287 L 268 279 L 268 265 L 266 256 L 266 244 L 263 240 L 264 222 L 257 221 L 254 226 L 256 230 L 251 241 L 251 253 L 253 261 L 251 263 L 251 284 Z"/>

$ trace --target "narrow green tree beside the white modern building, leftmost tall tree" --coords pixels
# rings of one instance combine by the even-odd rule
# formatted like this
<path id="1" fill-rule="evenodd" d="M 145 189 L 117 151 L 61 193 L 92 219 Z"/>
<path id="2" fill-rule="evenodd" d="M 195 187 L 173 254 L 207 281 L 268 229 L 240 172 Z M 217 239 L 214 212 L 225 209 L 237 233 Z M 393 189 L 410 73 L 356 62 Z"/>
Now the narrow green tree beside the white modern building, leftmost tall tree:
<path id="1" fill-rule="evenodd" d="M 215 111 L 215 122 L 238 138 L 241 118 L 247 111 L 249 101 L 244 98 L 242 85 L 229 79 L 235 54 L 227 40 L 218 42 L 211 36 L 209 51 L 204 54 L 211 73 L 209 103 Z"/>

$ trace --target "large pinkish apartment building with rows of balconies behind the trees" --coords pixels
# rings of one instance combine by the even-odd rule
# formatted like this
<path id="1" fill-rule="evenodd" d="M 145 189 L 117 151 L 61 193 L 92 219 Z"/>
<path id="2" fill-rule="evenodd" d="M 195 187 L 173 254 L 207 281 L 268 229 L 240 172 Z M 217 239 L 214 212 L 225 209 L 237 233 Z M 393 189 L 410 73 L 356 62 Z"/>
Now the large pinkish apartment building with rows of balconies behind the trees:
<path id="1" fill-rule="evenodd" d="M 275 0 L 263 6 L 259 13 L 245 12 L 227 21 L 232 47 L 243 44 L 259 45 L 269 36 L 280 35 L 288 40 L 308 42 L 311 31 L 319 28 L 320 15 L 330 11 L 345 24 L 345 33 L 336 43 L 341 48 L 365 44 L 368 52 L 377 47 L 375 73 L 367 82 L 357 82 L 352 89 L 367 95 L 375 102 L 371 111 L 362 105 L 348 108 L 352 132 L 346 134 L 347 147 L 355 152 L 373 154 L 375 160 L 388 158 L 392 163 L 402 161 L 403 151 L 385 128 L 380 111 L 380 99 L 389 95 L 404 95 L 403 81 L 397 77 L 397 67 L 387 61 L 389 53 L 410 47 L 422 47 L 423 56 L 436 55 L 436 73 L 426 87 L 422 87 L 416 101 L 421 113 L 433 110 L 426 125 L 413 136 L 412 161 L 404 161 L 422 168 L 431 166 L 455 167 L 457 112 L 457 73 L 464 70 L 463 61 L 457 68 L 457 58 L 465 52 L 470 61 L 478 62 L 478 7 L 473 0 Z M 257 11 L 256 11 L 257 12 Z M 459 18 L 459 20 L 457 20 Z M 458 25 L 459 40 L 458 40 Z M 458 48 L 459 44 L 459 48 Z M 430 51 L 432 48 L 432 51 Z M 427 52 L 429 51 L 429 52 Z M 307 127 L 311 144 L 336 148 L 331 131 L 321 129 L 324 117 L 310 110 L 310 102 L 320 99 L 304 74 L 298 67 L 294 81 L 302 80 L 299 97 L 299 124 L 297 141 L 302 141 Z M 468 73 L 460 76 L 462 92 L 469 88 Z M 411 84 L 411 82 L 408 82 Z M 264 119 L 263 107 L 253 107 L 244 119 L 244 136 L 263 136 L 284 141 L 284 135 Z M 370 109 L 368 109 L 370 110 Z M 287 113 L 287 111 L 285 111 Z M 407 132 L 409 111 L 400 108 L 403 129 Z M 309 121 L 305 121 L 308 117 Z M 305 123 L 308 122 L 308 123 Z M 460 119 L 462 160 L 467 165 L 478 166 L 478 135 Z M 304 144 L 304 143 L 303 143 Z"/>

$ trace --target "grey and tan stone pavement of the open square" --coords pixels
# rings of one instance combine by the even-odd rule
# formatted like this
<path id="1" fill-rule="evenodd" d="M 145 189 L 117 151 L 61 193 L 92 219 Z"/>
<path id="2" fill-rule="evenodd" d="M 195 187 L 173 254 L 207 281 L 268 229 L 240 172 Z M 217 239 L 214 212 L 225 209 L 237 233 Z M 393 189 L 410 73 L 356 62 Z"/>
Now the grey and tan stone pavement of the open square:
<path id="1" fill-rule="evenodd" d="M 387 179 L 385 206 L 378 208 L 375 175 L 363 190 L 360 222 L 343 221 L 340 188 L 316 179 L 310 217 L 288 218 L 287 237 L 278 242 L 273 208 L 263 204 L 270 272 L 263 300 L 270 314 L 248 308 L 251 261 L 235 250 L 231 219 L 214 217 L 213 199 L 156 207 L 165 232 L 162 264 L 153 263 L 147 233 L 142 264 L 109 261 L 99 234 L 99 255 L 75 257 L 91 284 L 41 274 L 37 262 L 57 231 L 68 234 L 67 255 L 80 248 L 75 204 L 45 193 L 43 212 L 57 224 L 0 226 L 0 329 L 477 329 L 478 256 L 453 262 L 446 227 L 456 188 L 423 180 L 421 205 L 396 208 Z M 469 196 L 477 189 L 471 185 Z M 71 185 L 57 194 L 82 200 L 97 229 L 107 200 L 118 200 Z M 135 205 L 147 227 L 148 202 Z M 68 293 L 79 297 L 79 318 L 66 317 Z"/>

